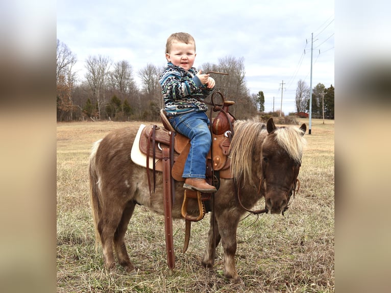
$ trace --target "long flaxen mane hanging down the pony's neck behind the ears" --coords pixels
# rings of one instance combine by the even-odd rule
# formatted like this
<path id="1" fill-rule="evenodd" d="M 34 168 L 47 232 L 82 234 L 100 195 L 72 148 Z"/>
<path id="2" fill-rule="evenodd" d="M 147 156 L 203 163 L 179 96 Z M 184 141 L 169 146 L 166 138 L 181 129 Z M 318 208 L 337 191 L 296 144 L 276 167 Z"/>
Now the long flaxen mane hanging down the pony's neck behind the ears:
<path id="1" fill-rule="evenodd" d="M 253 149 L 259 132 L 266 129 L 264 123 L 236 120 L 234 123 L 234 135 L 232 137 L 231 154 L 231 174 L 235 179 L 252 181 L 251 169 L 253 162 Z"/>

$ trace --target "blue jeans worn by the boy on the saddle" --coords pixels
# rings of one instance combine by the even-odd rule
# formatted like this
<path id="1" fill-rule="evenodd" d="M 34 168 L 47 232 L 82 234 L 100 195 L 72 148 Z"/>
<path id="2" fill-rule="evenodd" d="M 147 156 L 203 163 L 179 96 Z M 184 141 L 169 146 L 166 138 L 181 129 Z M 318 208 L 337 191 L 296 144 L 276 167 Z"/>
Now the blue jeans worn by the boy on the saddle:
<path id="1" fill-rule="evenodd" d="M 190 139 L 190 151 L 183 169 L 183 178 L 206 178 L 206 157 L 212 144 L 205 112 L 190 112 L 169 118 L 180 134 Z"/>

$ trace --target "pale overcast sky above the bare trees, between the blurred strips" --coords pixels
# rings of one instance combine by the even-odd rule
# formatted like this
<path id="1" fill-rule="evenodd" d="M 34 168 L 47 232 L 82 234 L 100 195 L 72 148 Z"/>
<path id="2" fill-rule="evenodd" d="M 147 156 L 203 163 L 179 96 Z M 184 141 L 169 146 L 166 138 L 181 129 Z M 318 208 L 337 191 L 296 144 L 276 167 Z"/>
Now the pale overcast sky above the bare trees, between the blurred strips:
<path id="1" fill-rule="evenodd" d="M 273 110 L 273 98 L 281 108 L 282 81 L 282 110 L 295 111 L 297 82 L 310 85 L 311 33 L 312 87 L 334 86 L 333 0 L 57 1 L 57 38 L 77 55 L 80 79 L 88 56 L 127 60 L 135 72 L 148 63 L 163 66 L 174 32 L 194 37 L 198 69 L 243 57 L 247 87 L 264 92 L 265 111 Z"/>

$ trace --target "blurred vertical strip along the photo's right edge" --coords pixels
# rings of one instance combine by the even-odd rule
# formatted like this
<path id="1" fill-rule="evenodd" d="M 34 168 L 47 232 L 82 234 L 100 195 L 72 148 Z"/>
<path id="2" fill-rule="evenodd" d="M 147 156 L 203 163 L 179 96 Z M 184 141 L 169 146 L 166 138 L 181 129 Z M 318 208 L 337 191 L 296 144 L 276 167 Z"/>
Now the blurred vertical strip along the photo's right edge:
<path id="1" fill-rule="evenodd" d="M 335 5 L 335 288 L 385 292 L 391 275 L 390 4 Z"/>

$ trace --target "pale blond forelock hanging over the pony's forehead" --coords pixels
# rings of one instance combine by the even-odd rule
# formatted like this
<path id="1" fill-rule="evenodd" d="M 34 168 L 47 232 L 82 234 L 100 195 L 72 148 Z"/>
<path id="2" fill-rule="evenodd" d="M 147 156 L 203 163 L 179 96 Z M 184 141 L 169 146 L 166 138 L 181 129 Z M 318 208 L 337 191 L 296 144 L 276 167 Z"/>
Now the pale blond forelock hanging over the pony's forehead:
<path id="1" fill-rule="evenodd" d="M 303 148 L 306 145 L 306 139 L 303 137 L 302 130 L 288 126 L 277 128 L 274 133 L 276 134 L 277 143 L 296 163 L 301 163 Z"/>

